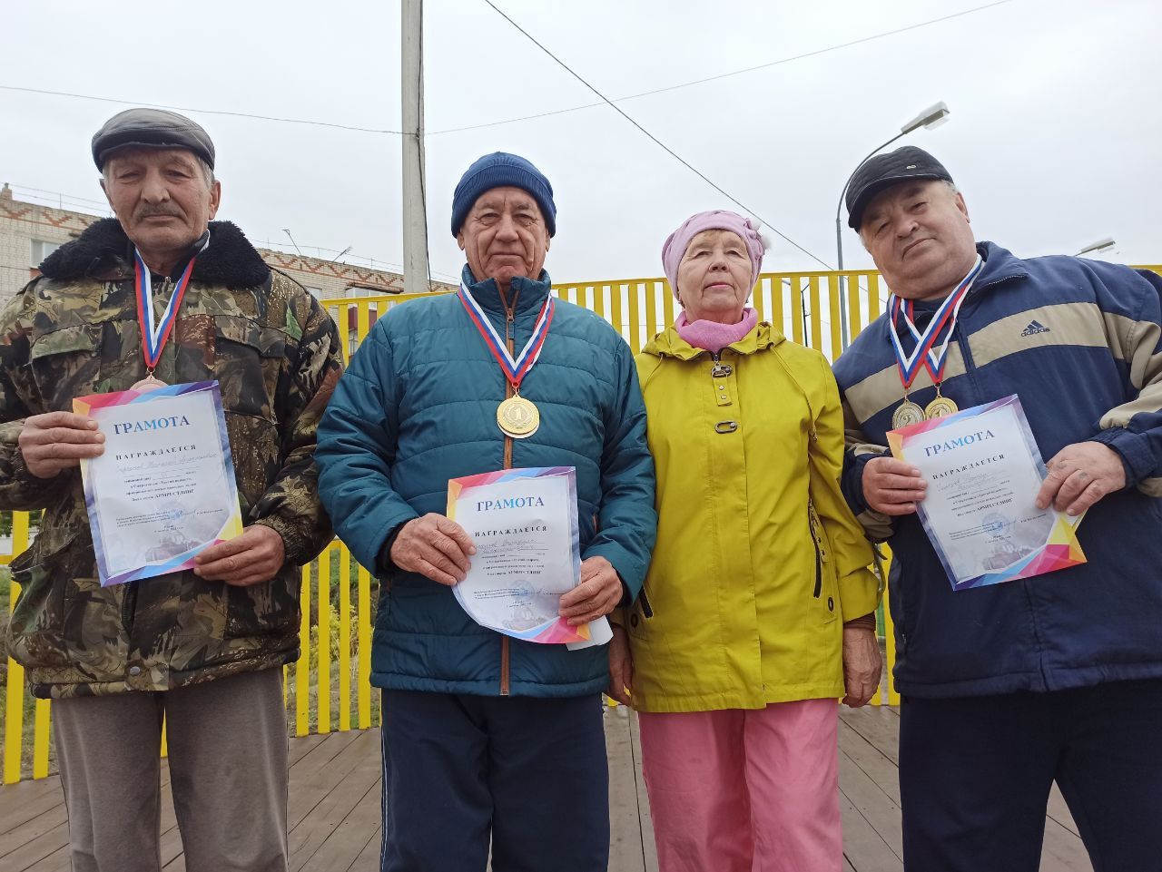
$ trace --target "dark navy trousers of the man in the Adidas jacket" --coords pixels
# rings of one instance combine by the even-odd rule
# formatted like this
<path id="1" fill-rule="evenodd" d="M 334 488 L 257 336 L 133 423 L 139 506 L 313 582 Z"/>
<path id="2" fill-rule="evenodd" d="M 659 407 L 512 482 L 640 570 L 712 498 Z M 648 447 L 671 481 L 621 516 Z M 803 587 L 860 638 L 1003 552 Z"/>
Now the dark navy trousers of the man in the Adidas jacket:
<path id="1" fill-rule="evenodd" d="M 909 698 L 899 719 L 906 872 L 1037 872 L 1054 780 L 1095 872 L 1162 870 L 1162 680 Z"/>

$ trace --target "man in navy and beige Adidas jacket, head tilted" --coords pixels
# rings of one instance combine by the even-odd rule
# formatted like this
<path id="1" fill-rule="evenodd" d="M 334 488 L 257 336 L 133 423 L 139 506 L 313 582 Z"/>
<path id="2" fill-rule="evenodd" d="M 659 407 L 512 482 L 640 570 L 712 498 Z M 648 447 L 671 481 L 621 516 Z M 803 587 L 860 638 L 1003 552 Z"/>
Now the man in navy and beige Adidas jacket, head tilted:
<path id="1" fill-rule="evenodd" d="M 1034 872 L 1056 780 L 1095 870 L 1162 869 L 1162 278 L 975 243 L 948 172 L 911 146 L 866 161 L 847 207 L 920 331 L 984 259 L 941 394 L 1017 394 L 1049 469 L 1039 504 L 1089 510 L 1086 563 L 954 592 L 916 516 L 924 480 L 884 447 L 904 402 L 888 318 L 837 361 L 845 492 L 896 557 L 905 867 Z M 910 399 L 935 396 L 921 372 Z"/>

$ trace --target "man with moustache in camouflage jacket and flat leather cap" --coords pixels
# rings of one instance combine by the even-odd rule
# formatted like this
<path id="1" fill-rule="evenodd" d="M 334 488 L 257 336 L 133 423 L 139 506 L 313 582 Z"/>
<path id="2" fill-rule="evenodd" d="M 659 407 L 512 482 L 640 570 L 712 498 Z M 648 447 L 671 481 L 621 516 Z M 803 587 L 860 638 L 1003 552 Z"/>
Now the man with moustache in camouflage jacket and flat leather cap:
<path id="1" fill-rule="evenodd" d="M 0 509 L 44 510 L 13 562 L 8 649 L 56 700 L 74 872 L 159 869 L 163 715 L 186 869 L 285 870 L 279 666 L 299 655 L 295 567 L 331 538 L 314 451 L 338 332 L 235 225 L 211 222 L 214 145 L 194 122 L 130 109 L 93 157 L 117 218 L 55 252 L 0 314 Z M 192 571 L 102 588 L 78 462 L 103 435 L 69 410 L 146 379 L 137 255 L 158 318 L 194 261 L 149 379 L 220 382 L 246 526 Z"/>

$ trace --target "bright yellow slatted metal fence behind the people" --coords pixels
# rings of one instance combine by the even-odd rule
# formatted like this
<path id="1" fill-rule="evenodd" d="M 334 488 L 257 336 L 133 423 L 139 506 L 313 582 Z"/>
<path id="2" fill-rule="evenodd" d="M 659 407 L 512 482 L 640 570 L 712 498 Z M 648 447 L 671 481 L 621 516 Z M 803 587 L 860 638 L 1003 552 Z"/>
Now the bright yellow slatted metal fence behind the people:
<path id="1" fill-rule="evenodd" d="M 1162 266 L 1150 269 L 1162 273 Z M 554 286 L 562 300 L 591 309 L 625 338 L 634 352 L 647 339 L 673 323 L 677 311 L 665 279 L 622 279 Z M 840 298 L 846 297 L 851 336 L 878 316 L 887 288 L 870 271 L 763 273 L 754 289 L 753 305 L 760 318 L 772 322 L 794 341 L 818 348 L 829 359 L 838 356 Z M 327 300 L 324 304 L 347 331 L 345 353 L 350 355 L 378 317 L 413 297 L 407 295 Z M 12 514 L 10 554 L 0 555 L 0 565 L 23 552 L 29 543 L 29 516 Z M 365 729 L 376 726 L 378 700 L 371 677 L 371 621 L 374 579 L 351 558 L 346 547 L 332 542 L 302 568 L 302 654 L 286 668 L 288 708 L 294 715 L 295 735 Z M 352 584 L 353 582 L 353 584 Z M 9 581 L 8 608 L 20 597 L 20 585 Z M 884 593 L 887 668 L 895 664 L 895 639 Z M 895 690 L 876 693 L 873 704 L 897 705 Z M 49 700 L 33 700 L 24 687 L 24 670 L 7 662 L 3 690 L 2 783 L 44 778 L 50 770 Z M 29 747 L 27 726 L 31 725 Z"/>

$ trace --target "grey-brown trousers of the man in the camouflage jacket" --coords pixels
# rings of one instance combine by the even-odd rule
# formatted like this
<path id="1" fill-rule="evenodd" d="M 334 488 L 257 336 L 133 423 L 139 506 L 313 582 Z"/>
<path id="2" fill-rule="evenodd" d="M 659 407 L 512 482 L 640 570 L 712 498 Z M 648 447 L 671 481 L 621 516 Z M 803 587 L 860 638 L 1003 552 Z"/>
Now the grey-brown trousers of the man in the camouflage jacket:
<path id="1" fill-rule="evenodd" d="M 187 872 L 286 872 L 281 669 L 53 701 L 73 872 L 159 872 L 163 714 Z"/>

